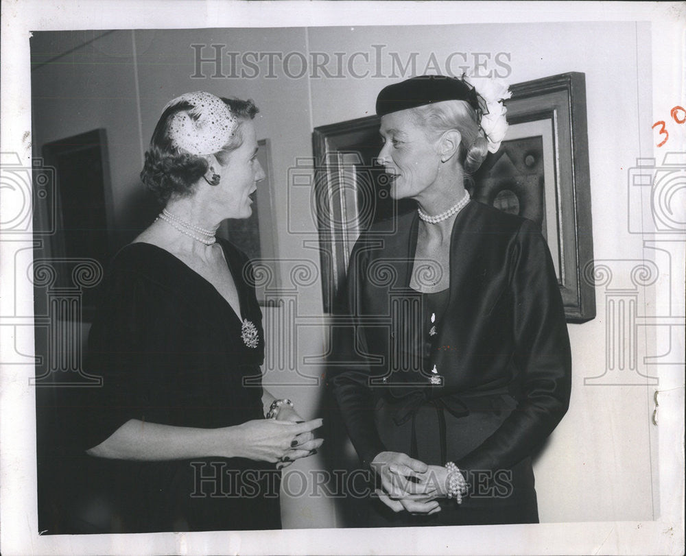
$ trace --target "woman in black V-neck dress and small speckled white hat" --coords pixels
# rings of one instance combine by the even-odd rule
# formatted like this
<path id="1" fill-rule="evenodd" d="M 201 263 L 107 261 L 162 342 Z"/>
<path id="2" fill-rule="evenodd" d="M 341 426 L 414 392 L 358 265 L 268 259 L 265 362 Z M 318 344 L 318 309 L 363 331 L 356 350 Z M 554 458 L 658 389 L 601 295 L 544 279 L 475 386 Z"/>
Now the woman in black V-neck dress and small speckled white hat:
<path id="1" fill-rule="evenodd" d="M 215 239 L 222 220 L 250 216 L 264 178 L 256 112 L 188 93 L 156 126 L 141 178 L 165 209 L 102 288 L 87 361 L 102 387 L 74 408 L 73 450 L 88 455 L 64 532 L 280 528 L 280 469 L 322 443 L 321 420 L 261 387 L 252 270 Z"/>

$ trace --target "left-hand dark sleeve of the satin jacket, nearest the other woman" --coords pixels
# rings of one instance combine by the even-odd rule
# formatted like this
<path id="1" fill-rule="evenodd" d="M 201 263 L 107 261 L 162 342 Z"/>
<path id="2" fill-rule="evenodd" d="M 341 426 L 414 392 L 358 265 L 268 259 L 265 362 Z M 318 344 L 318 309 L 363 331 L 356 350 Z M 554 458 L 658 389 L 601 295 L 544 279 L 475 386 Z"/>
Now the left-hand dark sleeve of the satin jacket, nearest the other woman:
<path id="1" fill-rule="evenodd" d="M 363 241 L 359 240 L 353 248 L 348 269 L 346 317 L 349 324 L 336 337 L 335 353 L 345 367 L 333 377 L 331 387 L 357 455 L 363 466 L 369 466 L 372 459 L 386 450 L 386 447 L 381 442 L 374 420 L 378 396 L 369 384 L 372 370 L 362 355 L 368 353 L 366 338 L 357 322 L 364 268 L 361 260 L 364 256 L 362 245 Z"/>

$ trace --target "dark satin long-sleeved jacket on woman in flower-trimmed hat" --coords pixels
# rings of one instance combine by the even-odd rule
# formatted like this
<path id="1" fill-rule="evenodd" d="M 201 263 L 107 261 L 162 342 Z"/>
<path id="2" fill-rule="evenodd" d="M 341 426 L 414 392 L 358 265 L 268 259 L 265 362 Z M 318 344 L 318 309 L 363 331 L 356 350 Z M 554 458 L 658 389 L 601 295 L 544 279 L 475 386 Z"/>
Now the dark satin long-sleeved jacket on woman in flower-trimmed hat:
<path id="1" fill-rule="evenodd" d="M 427 363 L 411 343 L 421 313 L 421 294 L 409 287 L 418 215 L 395 223 L 391 234 L 379 232 L 388 224 L 372 226 L 351 254 L 352 324 L 341 328 L 341 371 L 331 378 L 348 435 L 368 465 L 386 450 L 374 418 L 381 396 L 480 411 L 475 401 L 507 393 L 513 411 L 456 464 L 467 472 L 512 468 L 569 407 L 569 336 L 545 239 L 532 221 L 478 202 L 460 211 L 451 234 L 449 300 Z"/>

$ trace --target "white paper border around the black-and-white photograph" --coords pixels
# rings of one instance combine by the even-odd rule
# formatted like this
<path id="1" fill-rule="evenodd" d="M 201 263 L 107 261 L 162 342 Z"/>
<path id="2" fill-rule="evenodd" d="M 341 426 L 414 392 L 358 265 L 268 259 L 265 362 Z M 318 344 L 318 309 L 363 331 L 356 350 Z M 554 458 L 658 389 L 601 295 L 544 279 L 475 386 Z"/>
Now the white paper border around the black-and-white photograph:
<path id="1" fill-rule="evenodd" d="M 173 9 L 169 9 L 173 6 Z M 323 27 L 327 25 L 420 25 L 441 23 L 519 23 L 531 21 L 650 21 L 652 23 L 651 121 L 669 114 L 683 99 L 683 36 L 686 8 L 681 3 L 407 3 L 402 2 L 233 2 L 92 0 L 16 0 L 2 3 L 1 148 L 21 154 L 30 165 L 31 130 L 29 34 L 48 29 L 144 29 L 199 27 Z M 681 57 L 681 58 L 680 58 Z M 684 152 L 683 134 L 670 150 Z M 646 145 L 643 156 L 662 158 Z M 5 210 L 8 208 L 5 206 Z M 30 236 L 30 233 L 28 234 Z M 25 239 L 25 238 L 24 238 Z M 33 289 L 13 276 L 11 264 L 23 247 L 19 237 L 0 241 L 0 315 L 13 314 L 16 300 L 32 311 Z M 10 268 L 8 268 L 10 267 Z M 683 271 L 683 261 L 674 265 Z M 683 285 L 683 276 L 678 283 Z M 682 292 L 683 293 L 683 292 Z M 658 303 L 679 303 L 670 292 Z M 666 296 L 666 297 L 665 297 Z M 11 309 L 11 308 L 10 308 Z M 28 313 L 27 313 L 28 314 Z M 30 322 L 28 323 L 30 325 Z M 10 326 L 0 326 L 0 362 L 14 348 L 34 350 L 32 335 L 15 346 Z M 681 346 L 683 350 L 683 345 Z M 37 533 L 36 419 L 29 365 L 3 365 L 1 380 L 0 526 L 1 552 L 14 554 L 678 554 L 683 553 L 683 375 L 661 382 L 659 427 L 659 518 L 652 522 L 585 522 L 488 527 L 394 529 L 303 529 L 136 535 L 54 535 Z M 676 449 L 675 449 L 676 448 Z"/>

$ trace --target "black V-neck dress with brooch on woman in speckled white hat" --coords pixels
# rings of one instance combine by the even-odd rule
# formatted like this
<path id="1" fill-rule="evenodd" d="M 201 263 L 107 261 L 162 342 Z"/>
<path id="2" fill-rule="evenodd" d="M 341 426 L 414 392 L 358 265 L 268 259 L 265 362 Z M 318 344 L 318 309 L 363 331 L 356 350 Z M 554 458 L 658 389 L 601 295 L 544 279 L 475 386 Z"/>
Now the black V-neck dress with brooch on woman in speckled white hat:
<path id="1" fill-rule="evenodd" d="M 281 528 L 273 464 L 84 453 L 130 419 L 218 428 L 264 418 L 261 310 L 243 278 L 246 256 L 220 244 L 240 319 L 215 287 L 160 247 L 133 243 L 115 257 L 88 337 L 87 371 L 102 376 L 102 387 L 60 394 L 64 428 L 50 467 L 62 483 L 41 505 L 49 533 Z"/>

